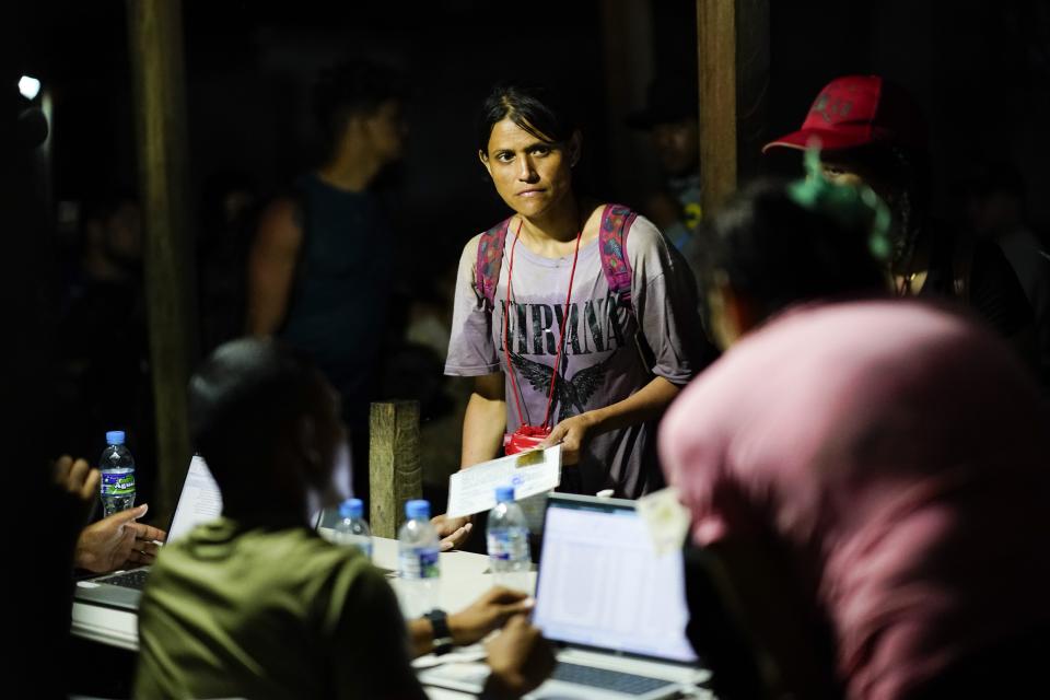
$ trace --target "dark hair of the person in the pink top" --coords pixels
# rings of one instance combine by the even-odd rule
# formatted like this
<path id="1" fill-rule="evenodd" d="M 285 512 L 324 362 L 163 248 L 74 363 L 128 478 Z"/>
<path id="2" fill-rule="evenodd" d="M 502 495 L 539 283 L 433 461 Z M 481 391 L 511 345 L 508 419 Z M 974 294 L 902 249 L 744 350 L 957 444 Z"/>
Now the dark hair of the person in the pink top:
<path id="1" fill-rule="evenodd" d="M 820 299 L 885 293 L 870 231 L 789 196 L 786 184 L 746 187 L 704 228 L 708 279 L 721 271 L 766 314 Z"/>

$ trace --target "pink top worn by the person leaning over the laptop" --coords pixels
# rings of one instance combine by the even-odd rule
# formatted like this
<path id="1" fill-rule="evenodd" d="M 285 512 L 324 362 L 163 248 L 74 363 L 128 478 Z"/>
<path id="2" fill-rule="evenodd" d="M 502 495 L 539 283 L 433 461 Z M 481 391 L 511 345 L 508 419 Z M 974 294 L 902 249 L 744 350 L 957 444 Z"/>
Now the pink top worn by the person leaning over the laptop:
<path id="1" fill-rule="evenodd" d="M 707 545 L 773 533 L 849 698 L 896 699 L 1050 621 L 1050 459 L 999 339 L 912 302 L 802 308 L 668 410 L 660 454 Z"/>

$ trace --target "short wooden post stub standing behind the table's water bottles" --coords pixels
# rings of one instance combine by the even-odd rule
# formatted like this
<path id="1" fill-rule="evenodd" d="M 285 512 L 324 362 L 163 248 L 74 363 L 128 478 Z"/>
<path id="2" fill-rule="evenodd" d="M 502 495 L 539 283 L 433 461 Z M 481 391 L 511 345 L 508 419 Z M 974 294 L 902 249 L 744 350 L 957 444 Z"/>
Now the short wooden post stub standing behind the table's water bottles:
<path id="1" fill-rule="evenodd" d="M 397 537 L 405 501 L 423 494 L 419 465 L 419 401 L 372 404 L 369 425 L 372 533 Z"/>

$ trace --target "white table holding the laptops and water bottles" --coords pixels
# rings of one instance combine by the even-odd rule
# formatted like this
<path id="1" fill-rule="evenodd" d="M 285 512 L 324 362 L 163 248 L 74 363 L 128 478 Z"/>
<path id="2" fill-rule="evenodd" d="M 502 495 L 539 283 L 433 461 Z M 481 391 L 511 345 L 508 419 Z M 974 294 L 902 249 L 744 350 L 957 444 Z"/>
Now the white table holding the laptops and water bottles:
<path id="1" fill-rule="evenodd" d="M 377 567 L 397 570 L 397 540 L 376 537 L 373 561 Z M 481 594 L 492 587 L 492 574 L 486 573 L 489 560 L 483 555 L 464 551 L 443 552 L 441 555 L 440 606 L 448 612 L 458 612 L 474 603 Z M 397 578 L 387 581 L 399 593 Z M 535 590 L 536 574 L 529 574 L 529 586 Z M 532 592 L 532 591 L 530 591 Z M 404 609 L 404 608 L 402 608 Z M 127 610 L 117 610 L 90 603 L 73 603 L 71 632 L 85 640 L 117 646 L 129 651 L 139 650 L 138 616 Z M 464 698 L 466 696 L 438 688 L 428 689 L 431 698 Z"/>

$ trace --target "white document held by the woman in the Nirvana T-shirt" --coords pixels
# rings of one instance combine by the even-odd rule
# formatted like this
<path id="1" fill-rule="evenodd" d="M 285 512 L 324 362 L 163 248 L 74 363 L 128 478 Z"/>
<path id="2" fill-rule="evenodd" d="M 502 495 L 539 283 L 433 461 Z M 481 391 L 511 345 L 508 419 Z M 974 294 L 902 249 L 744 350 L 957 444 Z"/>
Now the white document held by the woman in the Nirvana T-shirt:
<path id="1" fill-rule="evenodd" d="M 514 487 L 514 500 L 550 491 L 561 483 L 561 445 L 482 462 L 448 479 L 448 517 L 495 506 L 495 489 Z"/>

